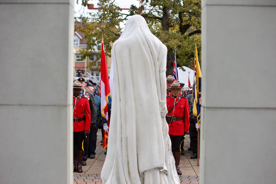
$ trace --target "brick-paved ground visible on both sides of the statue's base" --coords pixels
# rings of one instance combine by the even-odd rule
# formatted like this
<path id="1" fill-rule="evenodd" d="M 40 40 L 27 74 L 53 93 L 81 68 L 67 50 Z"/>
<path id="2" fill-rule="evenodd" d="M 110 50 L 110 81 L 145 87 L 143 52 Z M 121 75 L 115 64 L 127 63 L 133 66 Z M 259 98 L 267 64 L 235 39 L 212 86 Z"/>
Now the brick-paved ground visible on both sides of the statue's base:
<path id="1" fill-rule="evenodd" d="M 104 165 L 106 155 L 102 149 L 101 130 L 97 133 L 97 148 L 96 157 L 94 159 L 88 158 L 86 166 L 82 166 L 83 173 L 74 172 L 74 184 L 100 184 L 101 181 L 101 168 Z M 198 184 L 199 183 L 199 166 L 197 166 L 197 159 L 190 159 L 192 152 L 188 151 L 190 147 L 190 137 L 186 135 L 184 140 L 185 155 L 181 156 L 180 170 L 182 175 L 179 176 L 181 184 Z"/>

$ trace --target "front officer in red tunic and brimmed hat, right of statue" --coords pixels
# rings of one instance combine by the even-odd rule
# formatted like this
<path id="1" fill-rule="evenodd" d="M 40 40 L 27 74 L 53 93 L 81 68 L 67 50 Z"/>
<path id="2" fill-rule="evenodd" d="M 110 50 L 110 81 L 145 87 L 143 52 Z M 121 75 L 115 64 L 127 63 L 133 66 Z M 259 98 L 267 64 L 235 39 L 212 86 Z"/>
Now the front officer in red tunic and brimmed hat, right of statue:
<path id="1" fill-rule="evenodd" d="M 168 114 L 166 120 L 169 126 L 169 135 L 172 142 L 172 151 L 175 156 L 175 166 L 177 174 L 181 175 L 179 162 L 181 157 L 180 144 L 183 135 L 187 134 L 190 127 L 189 103 L 186 97 L 179 95 L 181 86 L 178 81 L 174 81 L 170 87 L 171 95 L 167 96 Z"/>

